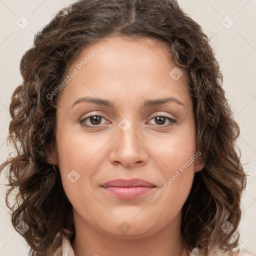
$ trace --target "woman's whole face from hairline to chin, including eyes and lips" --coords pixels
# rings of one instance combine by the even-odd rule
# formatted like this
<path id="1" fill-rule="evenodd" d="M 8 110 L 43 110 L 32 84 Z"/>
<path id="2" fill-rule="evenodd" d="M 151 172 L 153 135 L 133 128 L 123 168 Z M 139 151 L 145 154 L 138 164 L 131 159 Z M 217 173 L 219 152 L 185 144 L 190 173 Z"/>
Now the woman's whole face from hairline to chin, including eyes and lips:
<path id="1" fill-rule="evenodd" d="M 180 224 L 203 164 L 187 76 L 168 48 L 111 37 L 84 48 L 66 79 L 53 163 L 75 223 L 136 237 Z"/>

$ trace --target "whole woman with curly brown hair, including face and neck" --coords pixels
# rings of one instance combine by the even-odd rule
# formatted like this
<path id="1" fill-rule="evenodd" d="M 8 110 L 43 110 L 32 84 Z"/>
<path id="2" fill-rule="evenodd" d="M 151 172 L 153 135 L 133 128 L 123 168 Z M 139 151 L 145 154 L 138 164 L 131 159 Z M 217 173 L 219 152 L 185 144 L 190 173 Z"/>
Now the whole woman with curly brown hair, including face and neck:
<path id="1" fill-rule="evenodd" d="M 238 254 L 239 127 L 176 1 L 78 1 L 20 70 L 0 170 L 30 255 Z"/>

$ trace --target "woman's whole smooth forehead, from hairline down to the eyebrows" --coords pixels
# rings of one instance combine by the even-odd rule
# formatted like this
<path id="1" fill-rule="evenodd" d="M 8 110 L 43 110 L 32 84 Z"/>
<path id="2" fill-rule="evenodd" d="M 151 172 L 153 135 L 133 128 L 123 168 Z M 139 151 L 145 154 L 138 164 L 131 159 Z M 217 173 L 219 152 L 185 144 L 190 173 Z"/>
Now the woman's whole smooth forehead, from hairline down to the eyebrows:
<path id="1" fill-rule="evenodd" d="M 84 47 L 68 73 L 75 71 L 64 90 L 69 98 L 112 95 L 120 97 L 135 94 L 153 95 L 187 93 L 187 74 L 178 68 L 180 77 L 173 79 L 177 67 L 167 45 L 156 39 L 115 36 Z M 66 94 L 66 93 L 64 93 Z M 165 96 L 165 95 L 164 95 Z M 172 95 L 170 95 L 172 96 Z M 73 98 L 74 99 L 74 98 Z"/>

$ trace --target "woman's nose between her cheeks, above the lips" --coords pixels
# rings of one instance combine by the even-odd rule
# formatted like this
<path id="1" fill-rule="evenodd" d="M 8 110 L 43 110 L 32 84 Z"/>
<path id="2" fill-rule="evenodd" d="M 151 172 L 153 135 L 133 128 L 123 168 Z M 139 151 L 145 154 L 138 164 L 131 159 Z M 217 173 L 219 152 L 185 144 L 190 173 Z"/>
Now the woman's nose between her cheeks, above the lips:
<path id="1" fill-rule="evenodd" d="M 148 161 L 148 148 L 142 132 L 136 125 L 131 125 L 127 130 L 116 127 L 116 135 L 112 140 L 112 150 L 109 161 L 123 167 L 142 166 Z"/>

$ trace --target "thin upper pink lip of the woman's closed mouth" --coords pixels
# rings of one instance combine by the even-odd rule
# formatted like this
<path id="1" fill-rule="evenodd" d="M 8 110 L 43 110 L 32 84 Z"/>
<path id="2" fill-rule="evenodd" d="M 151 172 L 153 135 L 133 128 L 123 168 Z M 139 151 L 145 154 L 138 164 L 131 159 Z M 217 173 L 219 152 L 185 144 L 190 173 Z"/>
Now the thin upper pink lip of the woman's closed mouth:
<path id="1" fill-rule="evenodd" d="M 103 187 L 109 187 L 109 186 L 118 186 L 118 187 L 134 187 L 134 186 L 147 186 L 147 187 L 154 187 L 155 185 L 140 179 L 140 178 L 131 178 L 131 179 L 123 179 L 123 178 L 117 178 L 109 180 L 105 183 L 103 183 L 101 186 Z"/>

